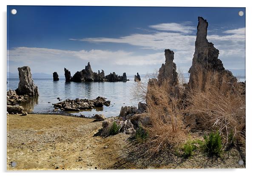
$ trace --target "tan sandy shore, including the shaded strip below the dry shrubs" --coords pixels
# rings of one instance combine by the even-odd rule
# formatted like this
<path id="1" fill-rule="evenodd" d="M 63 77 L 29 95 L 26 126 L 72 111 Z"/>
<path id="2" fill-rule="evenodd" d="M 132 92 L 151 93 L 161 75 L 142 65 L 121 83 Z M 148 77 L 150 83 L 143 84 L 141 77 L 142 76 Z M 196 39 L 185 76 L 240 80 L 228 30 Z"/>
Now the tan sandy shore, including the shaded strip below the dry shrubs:
<path id="1" fill-rule="evenodd" d="M 103 138 L 97 135 L 102 122 L 93 121 L 62 115 L 9 115 L 7 169 L 245 168 L 238 165 L 242 158 L 237 150 L 225 153 L 222 159 L 208 158 L 200 152 L 190 159 L 168 155 L 163 156 L 164 162 L 145 159 L 139 153 L 130 153 L 134 145 L 126 140 L 129 135 Z M 11 162 L 17 166 L 12 167 Z"/>

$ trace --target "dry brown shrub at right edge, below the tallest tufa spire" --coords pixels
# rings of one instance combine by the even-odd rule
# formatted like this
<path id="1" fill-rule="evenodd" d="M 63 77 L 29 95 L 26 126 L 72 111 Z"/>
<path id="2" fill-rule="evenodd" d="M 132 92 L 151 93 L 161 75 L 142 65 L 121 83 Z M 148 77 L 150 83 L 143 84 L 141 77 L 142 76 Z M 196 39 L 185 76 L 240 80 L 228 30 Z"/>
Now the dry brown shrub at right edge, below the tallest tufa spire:
<path id="1" fill-rule="evenodd" d="M 186 113 L 195 114 L 203 130 L 245 137 L 245 95 L 239 82 L 220 72 L 198 71 L 198 87 L 188 93 Z"/>

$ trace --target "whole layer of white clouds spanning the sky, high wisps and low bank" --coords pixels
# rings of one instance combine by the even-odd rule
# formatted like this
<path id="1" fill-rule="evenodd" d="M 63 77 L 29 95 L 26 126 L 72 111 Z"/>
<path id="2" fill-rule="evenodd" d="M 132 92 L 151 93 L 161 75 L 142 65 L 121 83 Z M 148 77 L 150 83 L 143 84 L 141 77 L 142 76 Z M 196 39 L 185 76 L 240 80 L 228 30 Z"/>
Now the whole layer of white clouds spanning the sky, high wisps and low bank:
<path id="1" fill-rule="evenodd" d="M 146 67 L 159 68 L 164 62 L 164 49 L 169 48 L 175 52 L 174 62 L 177 66 L 188 71 L 191 66 L 195 49 L 195 34 L 191 34 L 194 29 L 190 23 L 162 23 L 149 26 L 157 31 L 151 34 L 131 34 L 119 38 L 96 37 L 70 39 L 74 41 L 91 43 L 125 43 L 145 49 L 145 52 L 128 52 L 125 50 L 58 50 L 50 48 L 29 48 L 18 47 L 9 50 L 10 61 L 23 61 L 28 65 L 60 65 L 61 67 L 74 65 L 80 62 L 93 62 L 98 68 L 115 66 L 145 66 L 144 73 L 148 71 Z M 171 29 L 170 29 L 171 28 Z M 219 49 L 219 58 L 223 61 L 226 68 L 244 68 L 245 65 L 245 28 L 230 29 L 218 33 L 218 35 L 208 35 L 208 41 L 214 43 Z M 151 50 L 151 54 L 145 54 Z M 84 63 L 86 63 L 84 62 Z M 17 69 L 17 68 L 15 68 Z M 113 71 L 113 70 L 112 70 Z"/>

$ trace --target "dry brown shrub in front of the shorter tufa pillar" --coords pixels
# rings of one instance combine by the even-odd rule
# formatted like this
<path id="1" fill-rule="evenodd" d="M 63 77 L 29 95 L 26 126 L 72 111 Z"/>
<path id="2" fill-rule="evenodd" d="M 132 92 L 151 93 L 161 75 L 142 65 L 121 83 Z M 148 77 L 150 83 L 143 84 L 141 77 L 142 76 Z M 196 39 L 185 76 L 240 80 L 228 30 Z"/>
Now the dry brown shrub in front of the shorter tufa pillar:
<path id="1" fill-rule="evenodd" d="M 149 150 L 153 154 L 171 149 L 185 140 L 183 109 L 179 99 L 171 96 L 172 91 L 168 81 L 148 86 L 147 105 L 151 125 L 145 129 L 149 133 Z"/>

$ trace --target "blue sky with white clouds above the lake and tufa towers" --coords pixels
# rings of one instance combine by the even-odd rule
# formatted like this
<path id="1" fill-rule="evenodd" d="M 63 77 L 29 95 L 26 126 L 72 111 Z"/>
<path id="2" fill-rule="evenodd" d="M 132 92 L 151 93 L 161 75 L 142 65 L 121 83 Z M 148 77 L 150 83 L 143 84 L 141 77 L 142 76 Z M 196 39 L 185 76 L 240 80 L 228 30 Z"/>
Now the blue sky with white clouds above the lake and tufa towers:
<path id="1" fill-rule="evenodd" d="M 16 9 L 17 14 L 10 13 Z M 245 8 L 8 6 L 9 72 L 74 74 L 94 71 L 152 73 L 174 51 L 182 72 L 191 66 L 197 17 L 207 19 L 208 41 L 227 69 L 245 69 Z"/>

